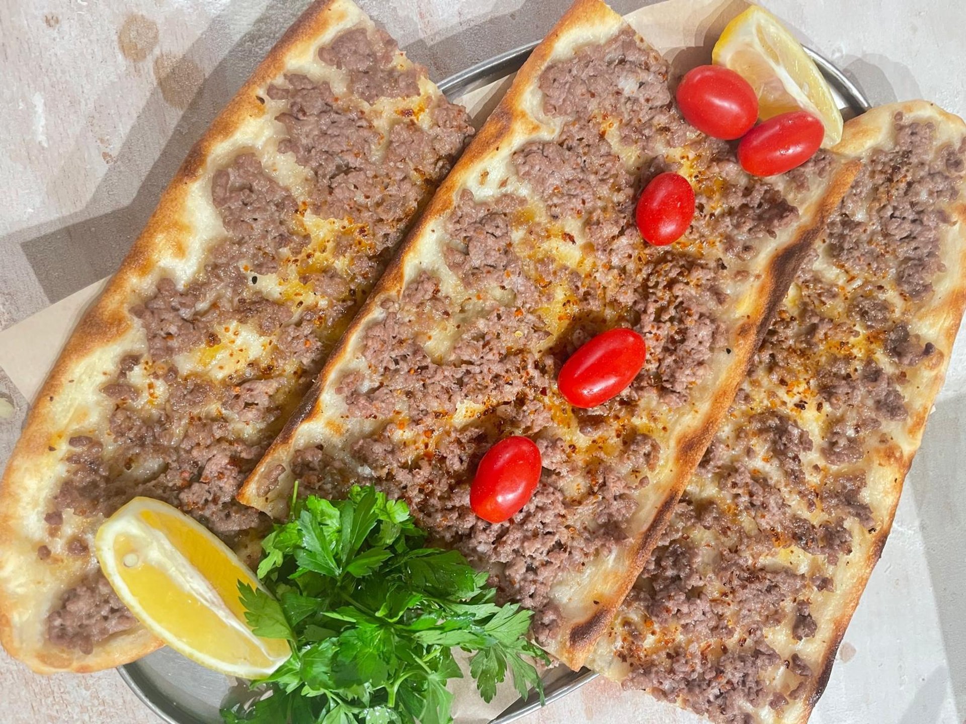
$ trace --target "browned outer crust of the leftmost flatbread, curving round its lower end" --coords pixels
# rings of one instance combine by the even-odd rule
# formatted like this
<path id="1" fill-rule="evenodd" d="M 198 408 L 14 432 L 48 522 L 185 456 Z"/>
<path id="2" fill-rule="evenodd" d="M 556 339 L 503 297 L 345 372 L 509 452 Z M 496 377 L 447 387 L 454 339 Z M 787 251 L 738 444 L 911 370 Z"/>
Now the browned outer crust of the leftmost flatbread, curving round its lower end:
<path id="1" fill-rule="evenodd" d="M 286 57 L 291 52 L 311 44 L 337 23 L 341 19 L 339 5 L 347 2 L 349 0 L 314 0 L 275 43 L 238 94 L 188 152 L 117 273 L 97 303 L 78 322 L 27 416 L 0 483 L 0 548 L 9 550 L 14 542 L 15 503 L 21 496 L 29 498 L 32 494 L 32 491 L 24 490 L 19 481 L 31 463 L 48 454 L 49 435 L 59 430 L 54 401 L 66 391 L 77 363 L 92 352 L 110 347 L 133 326 L 134 321 L 128 314 L 130 295 L 153 272 L 159 258 L 180 259 L 186 256 L 188 235 L 179 217 L 185 205 L 188 184 L 201 176 L 217 144 L 230 138 L 245 120 L 265 115 L 265 107 L 258 101 L 256 90 L 285 70 Z M 39 673 L 98 671 L 133 661 L 162 645 L 141 627 L 111 637 L 89 655 L 53 647 L 46 642 L 41 647 L 20 643 L 14 635 L 11 618 L 14 605 L 16 601 L 7 597 L 6 591 L 0 587 L 0 643 L 9 654 Z"/>

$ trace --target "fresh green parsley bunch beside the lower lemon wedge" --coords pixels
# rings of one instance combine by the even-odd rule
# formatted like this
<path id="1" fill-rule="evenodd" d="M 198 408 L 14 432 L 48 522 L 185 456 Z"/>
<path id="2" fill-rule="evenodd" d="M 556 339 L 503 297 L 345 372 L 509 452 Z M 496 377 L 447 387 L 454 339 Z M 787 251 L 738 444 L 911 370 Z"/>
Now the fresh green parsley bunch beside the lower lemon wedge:
<path id="1" fill-rule="evenodd" d="M 270 696 L 223 710 L 228 724 L 448 724 L 452 647 L 472 652 L 480 696 L 493 699 L 509 667 L 521 695 L 535 687 L 526 639 L 531 612 L 498 606 L 487 573 L 456 551 L 424 547 L 408 506 L 374 487 L 347 500 L 293 499 L 289 522 L 262 546 L 258 576 L 239 582 L 248 625 L 288 639 L 292 655 L 267 679 Z"/>

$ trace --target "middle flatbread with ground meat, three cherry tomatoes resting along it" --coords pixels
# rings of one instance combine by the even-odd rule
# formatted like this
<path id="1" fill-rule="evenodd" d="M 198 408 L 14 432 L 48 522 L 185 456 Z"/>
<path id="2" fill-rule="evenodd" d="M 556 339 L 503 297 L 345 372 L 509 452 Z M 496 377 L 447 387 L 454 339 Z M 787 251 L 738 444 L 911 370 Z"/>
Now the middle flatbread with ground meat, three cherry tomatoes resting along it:
<path id="1" fill-rule="evenodd" d="M 698 211 L 645 244 L 639 180 L 677 169 Z M 686 126 L 659 54 L 598 0 L 578 0 L 517 74 L 420 218 L 315 389 L 243 487 L 285 515 L 293 485 L 373 482 L 579 667 L 636 579 L 854 168 L 822 154 L 753 180 Z M 644 371 L 577 411 L 556 370 L 588 337 L 639 329 Z M 542 482 L 510 523 L 469 510 L 475 464 L 525 434 Z"/>

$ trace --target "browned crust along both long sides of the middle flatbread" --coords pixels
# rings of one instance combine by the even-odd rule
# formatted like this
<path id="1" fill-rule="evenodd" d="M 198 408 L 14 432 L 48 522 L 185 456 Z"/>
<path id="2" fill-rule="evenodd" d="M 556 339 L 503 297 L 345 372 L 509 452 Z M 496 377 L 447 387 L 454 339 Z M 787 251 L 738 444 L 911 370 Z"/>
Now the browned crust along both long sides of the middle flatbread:
<path id="1" fill-rule="evenodd" d="M 329 356 L 326 366 L 320 374 L 320 385 L 313 390 L 314 398 L 309 398 L 312 400 L 311 404 L 308 403 L 307 399 L 297 415 L 290 420 L 285 430 L 272 443 L 265 457 L 252 471 L 244 487 L 241 488 L 239 500 L 242 503 L 263 510 L 270 510 L 270 512 L 278 510 L 272 508 L 265 494 L 260 492 L 258 481 L 266 476 L 275 465 L 287 459 L 289 446 L 295 442 L 298 430 L 298 423 L 295 418 L 298 417 L 298 422 L 302 422 L 305 419 L 323 415 L 323 403 L 319 397 L 321 390 L 336 370 L 349 361 L 353 352 L 355 337 L 361 333 L 363 325 L 378 314 L 379 305 L 384 297 L 390 295 L 397 297 L 401 292 L 404 283 L 404 265 L 409 257 L 416 253 L 418 240 L 434 224 L 440 223 L 441 218 L 451 209 L 457 192 L 469 180 L 470 170 L 478 162 L 491 154 L 497 153 L 500 145 L 506 139 L 513 137 L 515 126 L 518 129 L 523 128 L 524 132 L 527 128 L 532 127 L 533 121 L 522 110 L 524 95 L 529 88 L 537 83 L 540 72 L 553 57 L 557 42 L 575 26 L 583 25 L 620 27 L 624 25 L 624 21 L 600 0 L 577 0 L 554 26 L 544 42 L 536 46 L 523 68 L 517 73 L 517 77 L 506 95 L 497 104 L 493 114 L 487 119 L 456 167 L 440 185 L 426 211 L 413 226 L 399 254 L 351 323 L 339 348 Z M 639 572 L 646 564 L 651 550 L 668 523 L 677 499 L 690 480 L 697 463 L 704 454 L 704 450 L 724 418 L 728 406 L 746 375 L 753 352 L 757 348 L 761 336 L 767 330 L 771 316 L 781 304 L 781 299 L 787 292 L 798 266 L 804 259 L 810 244 L 824 226 L 828 214 L 836 208 L 838 201 L 848 189 L 857 171 L 857 164 L 846 164 L 839 169 L 835 181 L 832 182 L 814 218 L 810 220 L 810 223 L 803 224 L 797 237 L 787 243 L 781 254 L 777 255 L 767 267 L 763 278 L 758 281 L 753 293 L 758 296 L 760 303 L 754 309 L 753 318 L 750 318 L 736 332 L 735 340 L 731 345 L 733 349 L 732 369 L 725 376 L 714 397 L 707 402 L 706 414 L 700 424 L 696 426 L 696 431 L 686 438 L 684 444 L 681 445 L 681 449 L 677 451 L 673 465 L 673 477 L 668 485 L 668 495 L 659 506 L 652 524 L 633 543 L 633 548 L 629 551 L 626 570 L 613 586 L 609 586 L 608 596 L 605 599 L 601 599 L 599 595 L 595 596 L 595 599 L 599 600 L 599 605 L 595 607 L 590 616 L 582 621 L 565 622 L 559 628 L 556 645 L 551 647 L 550 651 L 572 668 L 579 669 L 582 666 L 586 657 L 593 650 L 595 642 L 610 627 L 620 603 L 630 591 Z"/>

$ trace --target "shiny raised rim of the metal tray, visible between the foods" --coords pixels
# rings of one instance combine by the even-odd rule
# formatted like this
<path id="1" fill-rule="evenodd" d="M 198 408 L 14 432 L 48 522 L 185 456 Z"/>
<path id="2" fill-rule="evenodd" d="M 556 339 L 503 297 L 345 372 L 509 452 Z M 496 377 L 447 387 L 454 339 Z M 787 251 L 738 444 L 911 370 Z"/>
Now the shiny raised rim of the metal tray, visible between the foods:
<path id="1" fill-rule="evenodd" d="M 490 83 L 505 78 L 520 70 L 529 57 L 530 52 L 540 41 L 527 42 L 520 47 L 508 50 L 488 58 L 480 63 L 469 66 L 446 78 L 437 87 L 446 97 L 462 96 L 470 91 L 482 88 Z M 871 103 L 865 93 L 850 80 L 842 70 L 829 58 L 816 50 L 805 46 L 805 51 L 818 66 L 826 80 L 835 88 L 839 96 L 845 100 L 848 108 L 855 115 L 865 113 L 871 108 Z M 150 682 L 148 676 L 141 670 L 138 661 L 131 661 L 117 667 L 121 679 L 128 684 L 128 688 L 146 706 L 152 710 L 166 724 L 206 724 L 189 711 L 186 711 L 176 700 L 166 696 Z M 578 672 L 570 672 L 552 684 L 552 688 L 545 691 L 544 704 L 540 703 L 536 693 L 531 693 L 526 699 L 521 697 L 515 703 L 503 710 L 489 724 L 511 724 L 532 711 L 538 710 L 546 704 L 572 694 L 585 683 L 596 679 L 599 674 L 582 668 Z"/>

